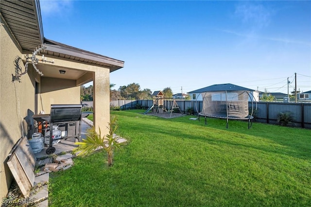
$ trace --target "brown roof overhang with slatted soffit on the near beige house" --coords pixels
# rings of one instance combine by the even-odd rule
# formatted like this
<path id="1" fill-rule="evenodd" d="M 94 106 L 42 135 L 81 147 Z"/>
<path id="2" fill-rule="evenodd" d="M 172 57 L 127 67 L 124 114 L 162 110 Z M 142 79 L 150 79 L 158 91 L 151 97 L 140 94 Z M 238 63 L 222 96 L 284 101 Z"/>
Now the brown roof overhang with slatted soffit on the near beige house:
<path id="1" fill-rule="evenodd" d="M 44 38 L 39 0 L 1 0 L 0 4 L 1 22 L 4 21 L 9 26 L 13 39 L 23 53 L 33 52 L 38 46 L 45 44 L 47 48 L 41 53 L 47 56 L 104 66 L 110 72 L 124 67 L 124 61 Z"/>

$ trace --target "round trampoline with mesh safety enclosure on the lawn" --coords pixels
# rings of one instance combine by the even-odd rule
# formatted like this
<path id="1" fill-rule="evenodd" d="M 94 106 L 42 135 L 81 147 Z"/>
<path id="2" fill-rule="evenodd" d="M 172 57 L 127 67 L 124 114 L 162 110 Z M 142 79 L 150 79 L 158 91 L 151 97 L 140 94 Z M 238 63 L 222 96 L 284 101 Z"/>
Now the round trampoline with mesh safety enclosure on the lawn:
<path id="1" fill-rule="evenodd" d="M 224 90 L 224 91 L 207 91 L 201 92 L 202 110 L 199 112 L 196 105 L 197 113 L 205 117 L 226 119 L 226 128 L 228 128 L 228 120 L 247 120 L 248 128 L 252 126 L 254 105 L 257 109 L 257 102 L 253 94 L 247 90 Z M 199 96 L 198 96 L 199 97 Z M 249 110 L 248 102 L 251 100 Z M 197 99 L 196 99 L 197 100 Z M 196 101 L 197 102 L 197 101 Z"/>

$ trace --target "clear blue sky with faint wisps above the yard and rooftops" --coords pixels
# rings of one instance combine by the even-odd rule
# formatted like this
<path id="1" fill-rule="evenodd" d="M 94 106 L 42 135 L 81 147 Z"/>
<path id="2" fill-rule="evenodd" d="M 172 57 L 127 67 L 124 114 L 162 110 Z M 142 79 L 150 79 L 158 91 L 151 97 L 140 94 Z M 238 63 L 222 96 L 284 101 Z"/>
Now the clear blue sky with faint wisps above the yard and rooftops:
<path id="1" fill-rule="evenodd" d="M 40 0 L 44 36 L 124 61 L 110 73 L 183 93 L 231 83 L 311 90 L 311 1 Z M 88 84 L 89 85 L 89 84 Z M 86 85 L 87 86 L 87 85 Z"/>

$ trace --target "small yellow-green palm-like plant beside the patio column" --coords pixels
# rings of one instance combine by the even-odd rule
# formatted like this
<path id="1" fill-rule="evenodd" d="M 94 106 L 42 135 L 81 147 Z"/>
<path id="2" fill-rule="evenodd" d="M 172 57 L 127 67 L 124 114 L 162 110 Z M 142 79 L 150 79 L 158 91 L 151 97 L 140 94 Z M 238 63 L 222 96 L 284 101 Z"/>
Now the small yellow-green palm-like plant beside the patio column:
<path id="1" fill-rule="evenodd" d="M 82 142 L 76 142 L 79 147 L 74 149 L 74 152 L 79 152 L 80 155 L 88 155 L 98 149 L 104 149 L 108 155 L 108 166 L 112 165 L 113 162 L 113 151 L 120 148 L 122 143 L 118 142 L 119 137 L 115 135 L 118 129 L 117 118 L 114 117 L 109 123 L 107 128 L 109 134 L 101 135 L 101 129 L 99 133 L 96 132 L 95 127 L 90 128 L 87 131 L 86 139 L 82 139 Z"/>

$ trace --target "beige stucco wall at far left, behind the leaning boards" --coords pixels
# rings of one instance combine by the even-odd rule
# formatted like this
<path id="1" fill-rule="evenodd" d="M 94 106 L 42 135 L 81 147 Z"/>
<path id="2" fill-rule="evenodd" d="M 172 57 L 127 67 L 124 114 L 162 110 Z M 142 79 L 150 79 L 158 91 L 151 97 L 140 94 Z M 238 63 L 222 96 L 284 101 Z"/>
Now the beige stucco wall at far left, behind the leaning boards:
<path id="1" fill-rule="evenodd" d="M 35 110 L 35 71 L 12 82 L 15 74 L 15 60 L 23 57 L 16 42 L 8 33 L 6 25 L 0 25 L 0 197 L 4 197 L 11 185 L 12 174 L 6 164 L 8 153 L 21 136 L 27 135 L 24 120 L 29 110 Z M 33 98 L 30 98 L 33 97 Z M 23 126 L 23 127 L 22 127 Z"/>

